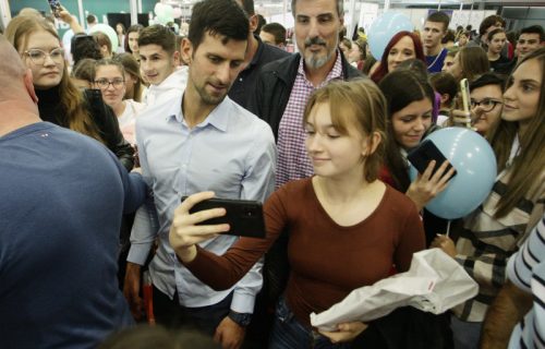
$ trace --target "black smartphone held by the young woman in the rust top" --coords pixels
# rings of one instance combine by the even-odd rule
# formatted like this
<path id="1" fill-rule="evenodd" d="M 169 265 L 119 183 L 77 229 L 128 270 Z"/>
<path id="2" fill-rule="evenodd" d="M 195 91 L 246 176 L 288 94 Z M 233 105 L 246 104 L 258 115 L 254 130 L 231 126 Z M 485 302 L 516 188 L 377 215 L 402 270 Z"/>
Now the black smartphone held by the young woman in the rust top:
<path id="1" fill-rule="evenodd" d="M 187 196 L 182 197 L 182 202 Z M 265 238 L 265 219 L 263 218 L 263 205 L 257 201 L 209 198 L 199 202 L 190 209 L 190 214 L 222 207 L 226 209 L 223 217 L 207 219 L 199 225 L 228 224 L 231 228 L 225 232 L 231 236 Z"/>

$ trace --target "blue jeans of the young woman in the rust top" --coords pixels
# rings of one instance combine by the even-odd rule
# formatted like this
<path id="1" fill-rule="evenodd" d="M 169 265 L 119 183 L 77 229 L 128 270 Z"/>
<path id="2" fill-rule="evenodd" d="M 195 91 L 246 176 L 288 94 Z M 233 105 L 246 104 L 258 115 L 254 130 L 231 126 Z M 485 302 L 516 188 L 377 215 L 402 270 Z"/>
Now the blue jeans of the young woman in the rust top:
<path id="1" fill-rule="evenodd" d="M 332 344 L 329 338 L 301 324 L 286 304 L 283 297 L 280 298 L 276 306 L 269 349 L 346 349 L 350 347 L 350 344 Z"/>

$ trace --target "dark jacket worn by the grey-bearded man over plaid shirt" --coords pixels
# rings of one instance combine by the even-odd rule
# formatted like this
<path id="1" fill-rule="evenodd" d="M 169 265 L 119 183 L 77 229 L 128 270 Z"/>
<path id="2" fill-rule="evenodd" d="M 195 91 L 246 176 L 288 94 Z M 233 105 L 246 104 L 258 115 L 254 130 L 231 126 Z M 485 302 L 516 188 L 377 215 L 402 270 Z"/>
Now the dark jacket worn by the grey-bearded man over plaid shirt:
<path id="1" fill-rule="evenodd" d="M 344 80 L 362 76 L 362 72 L 350 65 L 342 52 L 340 55 Z M 247 109 L 270 125 L 275 139 L 278 139 L 278 125 L 290 99 L 301 55 L 294 53 L 265 64 L 257 77 L 255 93 L 249 101 Z"/>

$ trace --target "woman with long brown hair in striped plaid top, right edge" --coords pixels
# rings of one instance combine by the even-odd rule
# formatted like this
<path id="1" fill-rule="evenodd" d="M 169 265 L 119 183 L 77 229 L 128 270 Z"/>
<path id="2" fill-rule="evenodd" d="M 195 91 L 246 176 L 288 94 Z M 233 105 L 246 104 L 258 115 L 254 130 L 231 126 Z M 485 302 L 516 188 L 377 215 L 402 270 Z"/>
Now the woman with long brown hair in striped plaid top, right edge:
<path id="1" fill-rule="evenodd" d="M 455 243 L 432 245 L 455 257 L 479 282 L 479 294 L 453 309 L 455 348 L 476 348 L 486 310 L 506 279 L 509 256 L 543 216 L 545 202 L 545 48 L 525 57 L 508 80 L 504 110 L 489 131 L 498 177 Z"/>

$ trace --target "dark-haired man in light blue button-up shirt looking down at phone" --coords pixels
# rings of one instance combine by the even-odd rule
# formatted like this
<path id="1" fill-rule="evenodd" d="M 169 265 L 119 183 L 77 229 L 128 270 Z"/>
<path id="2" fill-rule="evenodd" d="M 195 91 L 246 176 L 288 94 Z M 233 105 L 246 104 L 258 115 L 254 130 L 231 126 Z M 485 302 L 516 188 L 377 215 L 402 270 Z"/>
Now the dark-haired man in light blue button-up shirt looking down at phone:
<path id="1" fill-rule="evenodd" d="M 142 172 L 153 188 L 155 209 L 141 207 L 131 234 L 125 296 L 138 308 L 140 266 L 158 237 L 149 265 L 158 323 L 194 325 L 238 348 L 262 287 L 261 264 L 228 291 L 214 291 L 175 257 L 168 233 L 181 197 L 214 191 L 222 198 L 265 201 L 275 186 L 276 149 L 267 123 L 227 93 L 242 69 L 249 20 L 233 0 L 205 0 L 193 8 L 182 56 L 190 62 L 183 95 L 156 105 L 136 121 Z M 149 206 L 149 205 L 148 205 Z M 225 253 L 237 237 L 203 243 Z"/>

